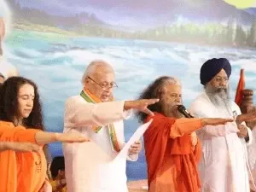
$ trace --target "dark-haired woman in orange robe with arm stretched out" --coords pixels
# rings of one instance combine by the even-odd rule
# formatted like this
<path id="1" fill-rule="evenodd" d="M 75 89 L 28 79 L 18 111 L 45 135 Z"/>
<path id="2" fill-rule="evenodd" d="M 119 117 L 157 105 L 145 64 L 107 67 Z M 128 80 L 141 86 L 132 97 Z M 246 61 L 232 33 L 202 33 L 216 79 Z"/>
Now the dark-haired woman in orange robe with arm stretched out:
<path id="1" fill-rule="evenodd" d="M 49 182 L 44 144 L 85 141 L 77 134 L 44 132 L 38 88 L 31 80 L 13 77 L 0 87 L 0 142 L 34 143 L 41 148 L 0 153 L 0 192 L 45 192 Z"/>

